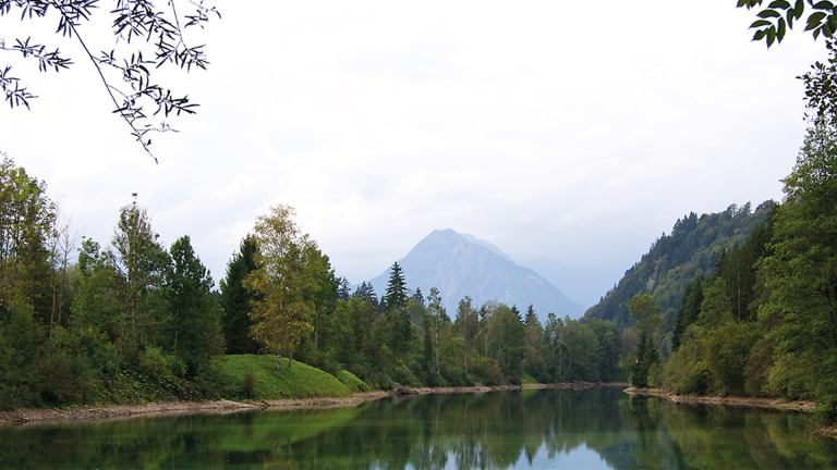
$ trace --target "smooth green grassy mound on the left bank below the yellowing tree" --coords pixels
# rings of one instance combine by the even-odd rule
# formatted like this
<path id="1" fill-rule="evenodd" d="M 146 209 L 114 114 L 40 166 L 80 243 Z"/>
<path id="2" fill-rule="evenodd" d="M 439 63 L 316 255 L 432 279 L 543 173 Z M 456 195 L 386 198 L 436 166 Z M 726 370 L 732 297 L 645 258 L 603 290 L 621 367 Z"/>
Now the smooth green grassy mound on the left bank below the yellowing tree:
<path id="1" fill-rule="evenodd" d="M 245 398 L 244 382 L 251 373 L 253 374 L 252 399 L 349 397 L 361 387 L 360 384 L 363 384 L 360 379 L 349 372 L 345 374 L 351 378 L 341 376 L 343 380 L 341 382 L 329 373 L 299 361 L 293 361 L 293 366 L 288 367 L 287 358 L 282 359 L 282 367 L 277 371 L 276 356 L 220 356 L 216 361 L 221 368 L 223 395 L 227 398 Z M 344 382 L 349 382 L 349 385 Z"/>

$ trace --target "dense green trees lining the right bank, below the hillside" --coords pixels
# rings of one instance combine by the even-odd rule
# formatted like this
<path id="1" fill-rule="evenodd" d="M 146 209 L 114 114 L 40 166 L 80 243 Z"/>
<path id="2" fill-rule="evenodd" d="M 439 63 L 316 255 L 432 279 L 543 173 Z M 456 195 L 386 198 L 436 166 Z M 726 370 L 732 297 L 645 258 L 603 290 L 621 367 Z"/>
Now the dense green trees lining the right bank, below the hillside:
<path id="1" fill-rule="evenodd" d="M 835 69 L 812 74 L 822 81 Z M 823 102 L 811 83 L 810 108 Z M 837 420 L 837 114 L 813 110 L 783 180 L 786 201 L 743 244 L 721 250 L 712 275 L 688 285 L 665 362 L 656 347 L 666 330 L 660 321 L 648 326 L 656 341 L 633 349 L 632 383 L 678 394 L 806 398 Z M 641 311 L 635 307 L 628 309 Z"/>

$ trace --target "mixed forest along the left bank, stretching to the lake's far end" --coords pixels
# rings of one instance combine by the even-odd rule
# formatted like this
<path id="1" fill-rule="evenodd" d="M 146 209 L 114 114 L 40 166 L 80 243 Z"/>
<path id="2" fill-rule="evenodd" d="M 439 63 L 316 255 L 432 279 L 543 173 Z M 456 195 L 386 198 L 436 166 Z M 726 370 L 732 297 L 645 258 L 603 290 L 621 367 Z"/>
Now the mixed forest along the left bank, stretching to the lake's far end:
<path id="1" fill-rule="evenodd" d="M 107 244 L 66 221 L 46 184 L 0 166 L 0 409 L 69 404 L 246 398 L 232 355 L 299 360 L 368 386 L 624 380 L 611 322 L 530 306 L 441 307 L 404 284 L 351 292 L 295 211 L 274 206 L 241 240 L 216 288 L 189 235 L 166 246 L 134 200 Z M 286 361 L 281 362 L 284 357 Z M 250 386 L 252 389 L 252 384 Z"/>

